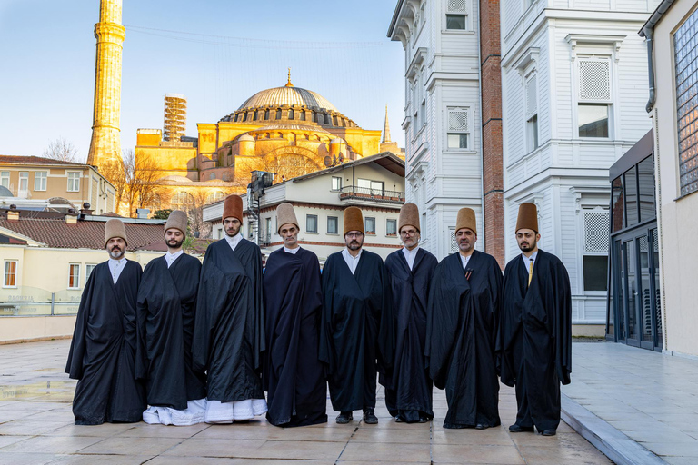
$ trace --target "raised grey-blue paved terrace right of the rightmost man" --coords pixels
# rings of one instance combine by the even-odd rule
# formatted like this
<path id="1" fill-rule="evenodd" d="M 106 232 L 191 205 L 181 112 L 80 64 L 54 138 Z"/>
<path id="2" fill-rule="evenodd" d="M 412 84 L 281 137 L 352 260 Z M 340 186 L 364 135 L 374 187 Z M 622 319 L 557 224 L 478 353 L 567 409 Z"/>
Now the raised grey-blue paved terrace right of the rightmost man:
<path id="1" fill-rule="evenodd" d="M 698 361 L 612 342 L 573 344 L 571 400 L 667 463 L 698 463 Z"/>

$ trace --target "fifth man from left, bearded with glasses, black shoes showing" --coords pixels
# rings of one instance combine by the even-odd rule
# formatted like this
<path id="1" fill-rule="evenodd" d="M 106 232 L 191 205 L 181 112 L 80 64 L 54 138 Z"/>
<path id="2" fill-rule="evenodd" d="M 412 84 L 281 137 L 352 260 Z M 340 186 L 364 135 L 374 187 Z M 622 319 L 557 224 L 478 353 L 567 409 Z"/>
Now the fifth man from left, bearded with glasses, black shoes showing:
<path id="1" fill-rule="evenodd" d="M 375 424 L 376 371 L 386 374 L 393 361 L 390 288 L 381 257 L 365 251 L 364 217 L 357 207 L 344 210 L 346 249 L 327 257 L 323 269 L 323 320 L 320 360 L 324 362 L 337 423 Z"/>

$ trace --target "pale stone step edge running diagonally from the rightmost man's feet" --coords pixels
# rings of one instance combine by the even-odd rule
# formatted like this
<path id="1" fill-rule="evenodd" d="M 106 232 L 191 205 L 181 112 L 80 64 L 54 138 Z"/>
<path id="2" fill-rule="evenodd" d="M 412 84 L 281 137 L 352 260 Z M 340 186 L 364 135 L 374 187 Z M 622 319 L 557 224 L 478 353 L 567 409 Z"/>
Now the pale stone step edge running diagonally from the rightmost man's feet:
<path id="1" fill-rule="evenodd" d="M 617 465 L 663 465 L 668 462 L 655 455 L 642 444 L 629 438 L 592 411 L 573 401 L 561 392 L 561 416 L 565 423 L 577 431 L 585 440 L 603 452 Z"/>

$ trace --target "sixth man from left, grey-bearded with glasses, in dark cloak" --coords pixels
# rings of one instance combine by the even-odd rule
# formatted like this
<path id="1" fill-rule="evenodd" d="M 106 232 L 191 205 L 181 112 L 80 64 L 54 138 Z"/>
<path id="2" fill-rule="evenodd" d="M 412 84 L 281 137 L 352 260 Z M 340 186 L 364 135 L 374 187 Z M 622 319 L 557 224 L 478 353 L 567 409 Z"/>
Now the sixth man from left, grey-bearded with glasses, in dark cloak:
<path id="1" fill-rule="evenodd" d="M 393 372 L 383 382 L 385 406 L 398 422 L 424 423 L 434 418 L 434 382 L 424 369 L 424 341 L 427 297 L 438 261 L 419 247 L 419 211 L 414 203 L 400 209 L 397 232 L 404 248 L 385 260 L 396 340 Z"/>

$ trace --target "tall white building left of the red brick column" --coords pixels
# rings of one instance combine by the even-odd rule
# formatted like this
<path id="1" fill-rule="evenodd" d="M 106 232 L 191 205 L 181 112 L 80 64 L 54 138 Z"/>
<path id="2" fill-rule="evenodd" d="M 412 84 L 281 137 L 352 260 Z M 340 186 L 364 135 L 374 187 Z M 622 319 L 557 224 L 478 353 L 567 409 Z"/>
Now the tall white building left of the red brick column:
<path id="1" fill-rule="evenodd" d="M 456 213 L 470 207 L 484 250 L 479 4 L 399 0 L 388 36 L 404 47 L 405 192 L 421 243 L 438 259 L 456 252 Z"/>

